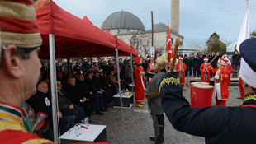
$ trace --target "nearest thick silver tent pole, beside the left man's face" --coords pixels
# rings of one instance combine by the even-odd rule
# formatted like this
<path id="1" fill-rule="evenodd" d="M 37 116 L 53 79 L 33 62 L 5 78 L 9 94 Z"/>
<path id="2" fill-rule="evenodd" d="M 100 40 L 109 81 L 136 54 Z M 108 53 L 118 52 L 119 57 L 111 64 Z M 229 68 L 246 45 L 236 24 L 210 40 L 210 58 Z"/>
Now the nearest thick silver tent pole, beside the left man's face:
<path id="1" fill-rule="evenodd" d="M 55 66 L 55 35 L 49 34 L 49 48 L 50 48 L 50 88 L 51 88 L 51 106 L 52 106 L 52 117 L 53 117 L 53 131 L 54 131 L 54 142 L 59 143 L 58 137 L 58 119 L 57 105 L 56 105 L 56 66 Z"/>

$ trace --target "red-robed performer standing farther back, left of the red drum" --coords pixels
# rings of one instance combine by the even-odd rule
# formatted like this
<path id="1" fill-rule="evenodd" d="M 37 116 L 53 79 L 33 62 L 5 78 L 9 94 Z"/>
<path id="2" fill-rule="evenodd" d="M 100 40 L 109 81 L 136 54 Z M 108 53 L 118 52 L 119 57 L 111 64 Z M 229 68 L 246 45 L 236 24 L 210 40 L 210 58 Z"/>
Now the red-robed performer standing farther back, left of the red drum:
<path id="1" fill-rule="evenodd" d="M 183 63 L 183 57 L 178 57 L 178 63 L 176 64 L 177 72 L 179 80 L 181 81 L 181 85 L 184 88 L 185 85 L 185 72 L 187 70 L 187 66 Z"/>

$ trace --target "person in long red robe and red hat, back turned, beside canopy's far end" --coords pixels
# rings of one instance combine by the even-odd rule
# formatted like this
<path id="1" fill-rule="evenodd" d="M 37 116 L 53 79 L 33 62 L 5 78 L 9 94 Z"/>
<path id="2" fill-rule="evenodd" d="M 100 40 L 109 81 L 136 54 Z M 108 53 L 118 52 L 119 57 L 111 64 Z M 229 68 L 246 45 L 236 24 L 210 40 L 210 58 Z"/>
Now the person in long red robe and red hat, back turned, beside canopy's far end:
<path id="1" fill-rule="evenodd" d="M 140 72 L 144 72 L 143 67 L 141 67 L 141 58 L 135 58 L 135 100 L 136 100 L 136 107 L 143 108 L 144 98 L 145 98 L 145 77 L 140 76 Z"/>

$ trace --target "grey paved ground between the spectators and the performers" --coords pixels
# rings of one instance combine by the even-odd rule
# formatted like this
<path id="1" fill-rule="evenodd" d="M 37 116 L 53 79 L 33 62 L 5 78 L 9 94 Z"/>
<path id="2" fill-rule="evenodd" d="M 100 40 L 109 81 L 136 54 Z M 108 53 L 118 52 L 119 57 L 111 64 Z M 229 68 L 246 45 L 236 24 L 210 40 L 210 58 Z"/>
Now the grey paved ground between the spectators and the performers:
<path id="1" fill-rule="evenodd" d="M 240 105 L 239 86 L 230 86 L 230 100 L 228 106 Z M 183 95 L 190 101 L 190 87 L 186 86 Z M 145 100 L 146 102 L 146 100 Z M 213 103 L 215 100 L 213 100 Z M 154 136 L 152 120 L 145 103 L 144 108 L 133 105 L 123 110 L 124 119 L 121 118 L 121 109 L 109 108 L 102 116 L 92 115 L 93 124 L 107 125 L 107 142 L 110 144 L 151 144 L 149 137 Z M 165 117 L 164 138 L 166 144 L 202 144 L 204 138 L 194 137 L 187 133 L 176 131 Z"/>

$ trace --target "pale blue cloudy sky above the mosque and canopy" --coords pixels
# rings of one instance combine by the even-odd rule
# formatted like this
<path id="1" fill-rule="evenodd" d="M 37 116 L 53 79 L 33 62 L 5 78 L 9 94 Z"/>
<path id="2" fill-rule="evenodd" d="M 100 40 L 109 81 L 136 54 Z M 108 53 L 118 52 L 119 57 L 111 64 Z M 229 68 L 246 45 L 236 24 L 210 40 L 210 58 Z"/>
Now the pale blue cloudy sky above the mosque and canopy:
<path id="1" fill-rule="evenodd" d="M 59 7 L 74 16 L 88 16 L 94 26 L 101 28 L 113 12 L 135 14 L 151 29 L 151 11 L 154 23 L 168 24 L 171 19 L 171 0 L 54 0 Z M 249 0 L 250 30 L 256 30 L 256 0 Z M 225 44 L 237 41 L 246 12 L 245 0 L 181 0 L 179 33 L 184 45 L 204 45 L 212 33 L 220 35 Z"/>

